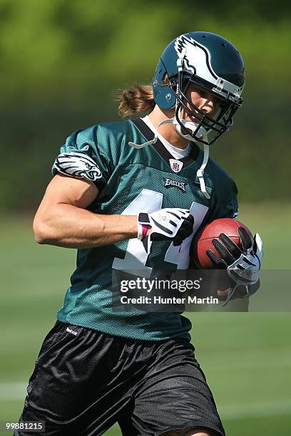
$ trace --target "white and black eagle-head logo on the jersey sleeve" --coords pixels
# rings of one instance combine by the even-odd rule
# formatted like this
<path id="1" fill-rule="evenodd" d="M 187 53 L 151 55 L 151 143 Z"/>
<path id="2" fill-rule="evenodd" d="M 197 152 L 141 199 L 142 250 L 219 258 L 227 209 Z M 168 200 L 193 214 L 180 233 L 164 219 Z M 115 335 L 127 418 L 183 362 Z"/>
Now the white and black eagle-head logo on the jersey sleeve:
<path id="1" fill-rule="evenodd" d="M 83 153 L 61 153 L 56 158 L 53 167 L 61 174 L 86 179 L 90 182 L 101 179 L 102 172 L 91 157 Z"/>

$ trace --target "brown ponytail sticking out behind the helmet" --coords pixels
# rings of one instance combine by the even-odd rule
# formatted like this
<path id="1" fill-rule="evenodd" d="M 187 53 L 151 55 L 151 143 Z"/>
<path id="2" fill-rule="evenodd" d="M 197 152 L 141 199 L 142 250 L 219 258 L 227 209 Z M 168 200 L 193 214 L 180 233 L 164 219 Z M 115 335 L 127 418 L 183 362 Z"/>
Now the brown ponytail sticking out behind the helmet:
<path id="1" fill-rule="evenodd" d="M 151 111 L 155 107 L 152 85 L 136 85 L 118 91 L 116 100 L 119 102 L 117 113 L 121 118 L 126 118 L 137 112 Z"/>

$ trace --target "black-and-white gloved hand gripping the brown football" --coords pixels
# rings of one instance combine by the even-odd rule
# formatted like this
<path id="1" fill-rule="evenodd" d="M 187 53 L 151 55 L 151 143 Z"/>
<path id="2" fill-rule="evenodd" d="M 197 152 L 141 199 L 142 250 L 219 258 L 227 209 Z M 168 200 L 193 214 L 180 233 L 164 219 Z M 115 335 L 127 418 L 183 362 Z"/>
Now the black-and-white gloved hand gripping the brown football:
<path id="1" fill-rule="evenodd" d="M 228 271 L 231 289 L 226 303 L 233 296 L 238 286 L 240 286 L 240 294 L 242 294 L 241 285 L 245 287 L 244 296 L 250 294 L 249 285 L 256 284 L 259 280 L 259 271 L 262 264 L 262 239 L 260 235 L 255 234 L 252 241 L 243 227 L 238 228 L 238 233 L 242 241 L 242 249 L 230 237 L 222 233 L 219 239 L 213 239 L 212 241 L 221 258 L 216 256 L 212 250 L 206 251 L 215 266 Z"/>

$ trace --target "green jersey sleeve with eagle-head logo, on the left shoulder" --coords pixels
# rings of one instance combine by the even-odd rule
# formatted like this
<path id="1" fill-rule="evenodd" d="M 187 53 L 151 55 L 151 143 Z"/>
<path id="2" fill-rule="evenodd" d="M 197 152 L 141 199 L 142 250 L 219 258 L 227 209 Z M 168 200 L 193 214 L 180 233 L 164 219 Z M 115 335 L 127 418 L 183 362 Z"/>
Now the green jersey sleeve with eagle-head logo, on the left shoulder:
<path id="1" fill-rule="evenodd" d="M 94 128 L 77 130 L 61 147 L 52 167 L 52 174 L 61 173 L 92 182 L 98 190 L 111 176 L 111 165 L 106 152 L 96 143 Z"/>

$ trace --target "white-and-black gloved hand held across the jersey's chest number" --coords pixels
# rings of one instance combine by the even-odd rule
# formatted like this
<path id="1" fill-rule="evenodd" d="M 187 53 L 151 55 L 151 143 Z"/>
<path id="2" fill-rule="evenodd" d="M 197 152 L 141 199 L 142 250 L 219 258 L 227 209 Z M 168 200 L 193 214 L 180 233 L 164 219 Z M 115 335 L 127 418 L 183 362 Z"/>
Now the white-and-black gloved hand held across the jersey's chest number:
<path id="1" fill-rule="evenodd" d="M 183 240 L 193 232 L 194 217 L 187 209 L 167 208 L 151 214 L 138 214 L 138 224 L 150 227 L 148 236 L 143 239 L 148 252 L 151 241 L 172 240 L 173 245 L 182 244 Z"/>

